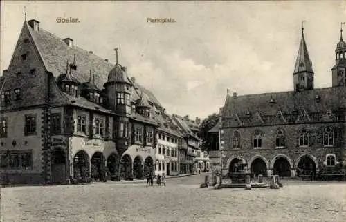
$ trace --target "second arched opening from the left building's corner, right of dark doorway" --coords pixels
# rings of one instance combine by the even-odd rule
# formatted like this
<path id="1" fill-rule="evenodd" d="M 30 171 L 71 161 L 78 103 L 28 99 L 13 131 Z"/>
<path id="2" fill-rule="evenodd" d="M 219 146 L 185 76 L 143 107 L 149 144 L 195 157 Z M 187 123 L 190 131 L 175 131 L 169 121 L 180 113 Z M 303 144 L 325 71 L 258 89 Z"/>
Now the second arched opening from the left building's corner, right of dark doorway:
<path id="1" fill-rule="evenodd" d="M 75 179 L 86 179 L 89 177 L 89 155 L 80 150 L 73 157 L 73 175 Z"/>

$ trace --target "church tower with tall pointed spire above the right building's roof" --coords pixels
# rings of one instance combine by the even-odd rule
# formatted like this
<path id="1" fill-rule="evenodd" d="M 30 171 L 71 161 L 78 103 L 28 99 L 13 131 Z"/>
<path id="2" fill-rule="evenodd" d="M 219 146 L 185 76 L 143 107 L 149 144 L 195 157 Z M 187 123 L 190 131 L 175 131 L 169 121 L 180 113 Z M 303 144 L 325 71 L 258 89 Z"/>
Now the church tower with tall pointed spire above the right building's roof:
<path id="1" fill-rule="evenodd" d="M 313 89 L 313 70 L 312 63 L 307 50 L 307 43 L 304 38 L 304 27 L 302 28 L 302 39 L 300 40 L 297 60 L 293 72 L 294 90 Z"/>

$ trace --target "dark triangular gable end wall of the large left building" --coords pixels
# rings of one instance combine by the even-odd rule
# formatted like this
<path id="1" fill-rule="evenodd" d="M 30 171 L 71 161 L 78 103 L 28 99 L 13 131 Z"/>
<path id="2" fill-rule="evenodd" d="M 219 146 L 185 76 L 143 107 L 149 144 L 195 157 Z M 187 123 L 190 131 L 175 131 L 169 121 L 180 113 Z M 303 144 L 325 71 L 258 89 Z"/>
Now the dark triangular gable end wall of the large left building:
<path id="1" fill-rule="evenodd" d="M 15 109 L 32 105 L 41 105 L 46 101 L 48 89 L 47 73 L 35 41 L 25 22 L 12 54 L 10 65 L 3 77 L 6 81 L 3 92 L 12 94 L 6 109 Z M 15 89 L 20 90 L 21 99 L 14 99 Z"/>

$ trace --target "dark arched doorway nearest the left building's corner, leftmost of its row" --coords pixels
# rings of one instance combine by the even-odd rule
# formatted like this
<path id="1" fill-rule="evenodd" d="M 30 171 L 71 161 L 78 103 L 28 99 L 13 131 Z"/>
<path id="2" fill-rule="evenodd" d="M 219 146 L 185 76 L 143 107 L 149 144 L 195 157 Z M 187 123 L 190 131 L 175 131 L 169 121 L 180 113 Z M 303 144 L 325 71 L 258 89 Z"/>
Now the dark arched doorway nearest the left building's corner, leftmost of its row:
<path id="1" fill-rule="evenodd" d="M 66 154 L 64 150 L 57 149 L 51 153 L 52 183 L 63 183 L 66 181 Z"/>

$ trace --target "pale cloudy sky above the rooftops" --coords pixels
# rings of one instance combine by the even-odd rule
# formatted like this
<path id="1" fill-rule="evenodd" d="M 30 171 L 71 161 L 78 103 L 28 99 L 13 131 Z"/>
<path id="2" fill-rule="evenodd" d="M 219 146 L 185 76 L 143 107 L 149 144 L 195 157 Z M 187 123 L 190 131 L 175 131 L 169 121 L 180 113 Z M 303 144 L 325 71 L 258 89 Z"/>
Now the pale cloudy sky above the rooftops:
<path id="1" fill-rule="evenodd" d="M 330 87 L 346 21 L 346 1 L 1 1 L 1 70 L 12 57 L 24 6 L 28 20 L 112 63 L 118 47 L 119 63 L 167 113 L 191 118 L 219 112 L 227 89 L 238 95 L 293 90 L 302 21 L 315 88 Z M 57 23 L 57 17 L 80 22 Z"/>

